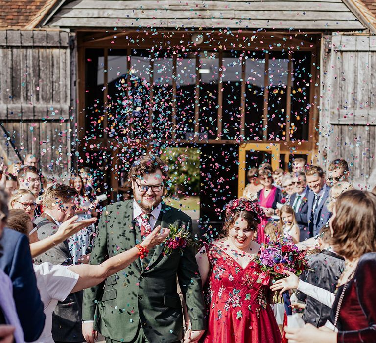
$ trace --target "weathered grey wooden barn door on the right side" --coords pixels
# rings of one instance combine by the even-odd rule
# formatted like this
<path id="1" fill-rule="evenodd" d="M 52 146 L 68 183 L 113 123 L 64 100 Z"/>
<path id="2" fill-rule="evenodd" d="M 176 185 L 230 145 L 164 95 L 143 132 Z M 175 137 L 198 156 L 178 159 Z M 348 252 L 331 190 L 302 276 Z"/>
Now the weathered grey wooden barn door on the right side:
<path id="1" fill-rule="evenodd" d="M 376 184 L 376 36 L 324 37 L 320 162 L 351 164 L 355 187 Z M 326 50 L 326 51 L 325 51 Z"/>

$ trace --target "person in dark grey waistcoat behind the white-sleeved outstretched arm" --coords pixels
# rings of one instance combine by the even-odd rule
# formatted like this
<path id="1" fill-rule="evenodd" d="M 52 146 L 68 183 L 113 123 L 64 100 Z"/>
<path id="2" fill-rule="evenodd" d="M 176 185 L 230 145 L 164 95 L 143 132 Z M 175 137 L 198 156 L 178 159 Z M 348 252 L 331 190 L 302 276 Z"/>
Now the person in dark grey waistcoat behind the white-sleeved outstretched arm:
<path id="1" fill-rule="evenodd" d="M 343 257 L 336 254 L 330 247 L 330 239 L 330 228 L 323 227 L 318 238 L 321 251 L 310 255 L 310 270 L 305 270 L 300 279 L 334 293 L 338 279 L 344 270 L 345 262 Z M 325 325 L 326 321 L 330 319 L 331 307 L 301 292 L 298 292 L 297 296 L 299 300 L 305 301 L 303 312 L 305 323 L 311 323 L 316 327 Z"/>

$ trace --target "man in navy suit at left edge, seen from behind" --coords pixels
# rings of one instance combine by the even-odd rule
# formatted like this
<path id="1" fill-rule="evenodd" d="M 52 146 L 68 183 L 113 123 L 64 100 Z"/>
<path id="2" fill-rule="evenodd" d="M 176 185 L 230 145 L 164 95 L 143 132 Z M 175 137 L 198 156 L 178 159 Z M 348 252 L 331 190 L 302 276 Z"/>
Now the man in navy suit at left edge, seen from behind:
<path id="1" fill-rule="evenodd" d="M 0 220 L 6 220 L 8 208 L 5 193 L 0 190 Z M 37 288 L 28 238 L 17 231 L 4 228 L 0 238 L 2 251 L 0 268 L 13 283 L 13 298 L 26 342 L 39 338 L 46 316 Z"/>

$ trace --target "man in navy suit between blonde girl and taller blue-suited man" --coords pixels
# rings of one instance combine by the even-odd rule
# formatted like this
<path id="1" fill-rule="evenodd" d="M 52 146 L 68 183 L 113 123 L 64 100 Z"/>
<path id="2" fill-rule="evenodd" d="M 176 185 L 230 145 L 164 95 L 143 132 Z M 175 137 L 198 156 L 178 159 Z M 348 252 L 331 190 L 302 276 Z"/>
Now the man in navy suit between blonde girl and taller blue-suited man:
<path id="1" fill-rule="evenodd" d="M 308 229 L 308 194 L 307 180 L 304 172 L 293 173 L 292 183 L 295 192 L 290 197 L 290 206 L 295 211 L 296 221 L 300 229 L 300 241 L 305 241 L 310 237 Z"/>

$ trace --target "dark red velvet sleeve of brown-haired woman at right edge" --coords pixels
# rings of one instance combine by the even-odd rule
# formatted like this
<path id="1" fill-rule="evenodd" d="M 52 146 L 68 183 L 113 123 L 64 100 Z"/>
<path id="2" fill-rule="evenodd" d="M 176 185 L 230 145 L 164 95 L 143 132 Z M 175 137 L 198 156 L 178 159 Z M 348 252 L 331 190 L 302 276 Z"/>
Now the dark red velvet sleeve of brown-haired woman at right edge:
<path id="1" fill-rule="evenodd" d="M 360 259 L 354 276 L 356 295 L 364 316 L 368 319 L 368 327 L 338 332 L 338 343 L 376 342 L 376 298 L 371 295 L 376 294 L 375 270 L 376 253 L 368 253 Z"/>

